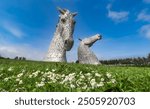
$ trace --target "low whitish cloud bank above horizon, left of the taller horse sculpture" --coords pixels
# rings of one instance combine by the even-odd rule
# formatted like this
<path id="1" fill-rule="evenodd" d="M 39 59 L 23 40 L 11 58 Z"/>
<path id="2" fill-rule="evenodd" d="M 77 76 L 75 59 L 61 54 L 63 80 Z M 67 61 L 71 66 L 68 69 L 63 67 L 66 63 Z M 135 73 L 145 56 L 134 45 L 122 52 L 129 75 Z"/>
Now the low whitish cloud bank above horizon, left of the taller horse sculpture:
<path id="1" fill-rule="evenodd" d="M 19 56 L 30 60 L 43 60 L 45 52 L 28 45 L 0 44 L 0 55 L 10 58 Z"/>

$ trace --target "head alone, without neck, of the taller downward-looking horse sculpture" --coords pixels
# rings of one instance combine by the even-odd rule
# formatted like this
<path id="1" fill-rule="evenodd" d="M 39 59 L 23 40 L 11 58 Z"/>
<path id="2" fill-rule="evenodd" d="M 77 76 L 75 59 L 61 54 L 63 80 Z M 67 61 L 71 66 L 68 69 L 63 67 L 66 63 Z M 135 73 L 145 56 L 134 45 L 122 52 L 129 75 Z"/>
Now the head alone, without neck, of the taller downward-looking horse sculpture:
<path id="1" fill-rule="evenodd" d="M 61 8 L 58 8 L 58 11 L 60 12 L 59 26 L 62 28 L 61 37 L 64 40 L 65 49 L 70 51 L 74 43 L 73 32 L 76 23 L 74 16 L 76 16 L 77 13 L 71 13 L 69 10 Z"/>

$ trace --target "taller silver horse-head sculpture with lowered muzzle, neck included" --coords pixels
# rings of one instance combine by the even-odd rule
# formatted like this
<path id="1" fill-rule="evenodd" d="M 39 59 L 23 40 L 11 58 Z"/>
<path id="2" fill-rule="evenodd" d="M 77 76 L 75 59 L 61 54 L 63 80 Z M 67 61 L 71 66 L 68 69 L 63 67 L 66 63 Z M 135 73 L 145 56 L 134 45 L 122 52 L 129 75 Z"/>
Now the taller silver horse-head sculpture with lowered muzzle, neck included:
<path id="1" fill-rule="evenodd" d="M 59 21 L 45 61 L 66 62 L 66 51 L 70 51 L 74 43 L 74 17 L 77 13 L 71 13 L 67 9 L 57 9 L 60 12 Z"/>

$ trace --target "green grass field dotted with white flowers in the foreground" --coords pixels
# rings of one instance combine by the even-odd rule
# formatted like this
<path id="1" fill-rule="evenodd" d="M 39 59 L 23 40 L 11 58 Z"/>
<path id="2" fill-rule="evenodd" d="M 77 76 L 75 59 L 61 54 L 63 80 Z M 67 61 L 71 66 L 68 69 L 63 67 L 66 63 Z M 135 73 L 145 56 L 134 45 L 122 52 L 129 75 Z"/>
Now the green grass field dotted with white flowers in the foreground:
<path id="1" fill-rule="evenodd" d="M 150 68 L 0 59 L 0 91 L 150 92 Z"/>

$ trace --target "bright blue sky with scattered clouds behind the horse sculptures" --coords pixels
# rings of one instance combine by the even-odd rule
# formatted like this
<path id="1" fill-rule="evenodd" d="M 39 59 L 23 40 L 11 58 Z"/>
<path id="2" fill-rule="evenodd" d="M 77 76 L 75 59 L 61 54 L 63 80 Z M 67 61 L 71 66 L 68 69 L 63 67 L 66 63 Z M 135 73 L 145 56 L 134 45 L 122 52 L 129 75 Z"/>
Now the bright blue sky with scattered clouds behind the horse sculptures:
<path id="1" fill-rule="evenodd" d="M 150 0 L 0 0 L 0 54 L 42 60 L 55 32 L 57 6 L 78 12 L 68 61 L 77 60 L 78 38 L 97 33 L 103 39 L 91 49 L 99 59 L 150 53 Z"/>

